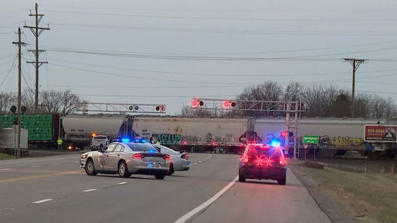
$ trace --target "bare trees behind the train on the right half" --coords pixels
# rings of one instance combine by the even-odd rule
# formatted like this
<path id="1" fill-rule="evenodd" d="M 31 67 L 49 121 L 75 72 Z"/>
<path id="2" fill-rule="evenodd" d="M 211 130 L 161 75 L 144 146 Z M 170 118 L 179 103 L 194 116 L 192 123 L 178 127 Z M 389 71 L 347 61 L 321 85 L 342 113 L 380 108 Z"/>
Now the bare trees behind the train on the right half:
<path id="1" fill-rule="evenodd" d="M 300 101 L 307 111 L 307 117 L 350 117 L 352 109 L 351 91 L 336 85 L 313 84 L 303 86 L 298 82 L 290 82 L 285 87 L 274 81 L 245 88 L 236 100 L 248 101 Z M 354 116 L 363 118 L 394 118 L 397 117 L 397 106 L 393 99 L 375 94 L 355 94 Z M 276 111 L 215 111 L 182 108 L 182 116 L 284 116 Z"/>

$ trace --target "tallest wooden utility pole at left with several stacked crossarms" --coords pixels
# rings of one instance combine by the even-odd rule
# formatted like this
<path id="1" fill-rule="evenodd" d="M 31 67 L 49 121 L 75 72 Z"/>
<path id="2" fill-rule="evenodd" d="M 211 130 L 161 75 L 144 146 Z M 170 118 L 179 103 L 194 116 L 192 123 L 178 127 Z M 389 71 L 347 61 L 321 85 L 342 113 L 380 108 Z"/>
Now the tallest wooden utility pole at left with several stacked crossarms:
<path id="1" fill-rule="evenodd" d="M 36 113 L 38 113 L 38 106 L 39 106 L 39 67 L 41 66 L 41 64 L 47 63 L 47 61 L 46 62 L 39 61 L 39 55 L 42 52 L 45 52 L 45 50 L 39 50 L 39 36 L 44 30 L 50 30 L 50 28 L 48 27 L 48 24 L 47 24 L 47 28 L 39 27 L 39 23 L 40 23 L 41 19 L 43 18 L 44 14 L 38 14 L 37 6 L 38 5 L 36 3 L 35 4 L 35 14 L 32 14 L 32 10 L 30 10 L 30 14 L 29 14 L 29 16 L 36 17 L 35 26 L 27 26 L 26 21 L 25 21 L 25 25 L 23 26 L 24 28 L 29 28 L 32 31 L 33 35 L 36 37 L 36 50 L 34 50 L 34 51 L 29 50 L 30 52 L 33 52 L 33 54 L 36 56 L 36 61 L 28 61 L 28 63 L 32 63 L 36 67 L 36 92 L 35 92 L 35 104 L 34 104 Z"/>

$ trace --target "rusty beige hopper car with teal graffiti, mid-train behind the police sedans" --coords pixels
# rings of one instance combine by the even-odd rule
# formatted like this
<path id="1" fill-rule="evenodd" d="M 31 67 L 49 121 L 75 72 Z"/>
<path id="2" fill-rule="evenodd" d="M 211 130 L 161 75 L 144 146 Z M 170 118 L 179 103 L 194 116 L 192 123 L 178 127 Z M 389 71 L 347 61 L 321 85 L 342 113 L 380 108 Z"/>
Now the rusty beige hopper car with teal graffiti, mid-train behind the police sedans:
<path id="1" fill-rule="evenodd" d="M 172 147 L 240 147 L 247 132 L 247 118 L 143 117 L 133 119 L 133 131 L 142 139 L 156 136 Z"/>

